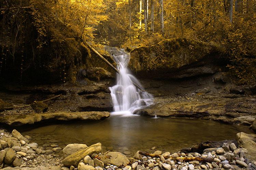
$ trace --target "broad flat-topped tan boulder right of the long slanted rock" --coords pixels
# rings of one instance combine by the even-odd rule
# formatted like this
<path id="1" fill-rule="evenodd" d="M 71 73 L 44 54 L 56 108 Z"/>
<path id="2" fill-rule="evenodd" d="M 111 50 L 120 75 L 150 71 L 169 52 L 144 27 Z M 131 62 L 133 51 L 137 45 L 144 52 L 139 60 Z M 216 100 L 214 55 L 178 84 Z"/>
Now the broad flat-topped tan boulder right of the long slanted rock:
<path id="1" fill-rule="evenodd" d="M 129 159 L 120 152 L 109 152 L 106 155 L 101 155 L 100 159 L 104 164 L 110 163 L 117 167 L 122 165 L 126 166 L 130 162 Z"/>

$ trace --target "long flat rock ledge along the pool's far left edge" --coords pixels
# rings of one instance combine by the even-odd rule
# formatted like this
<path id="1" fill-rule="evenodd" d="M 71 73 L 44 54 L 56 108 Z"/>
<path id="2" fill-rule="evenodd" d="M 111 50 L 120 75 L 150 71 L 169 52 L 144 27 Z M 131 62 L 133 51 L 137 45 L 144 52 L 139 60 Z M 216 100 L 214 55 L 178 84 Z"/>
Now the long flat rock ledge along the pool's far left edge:
<path id="1" fill-rule="evenodd" d="M 6 115 L 0 118 L 0 122 L 12 126 L 34 124 L 35 122 L 47 120 L 100 120 L 110 116 L 109 112 L 55 112 L 34 113 L 29 115 Z"/>

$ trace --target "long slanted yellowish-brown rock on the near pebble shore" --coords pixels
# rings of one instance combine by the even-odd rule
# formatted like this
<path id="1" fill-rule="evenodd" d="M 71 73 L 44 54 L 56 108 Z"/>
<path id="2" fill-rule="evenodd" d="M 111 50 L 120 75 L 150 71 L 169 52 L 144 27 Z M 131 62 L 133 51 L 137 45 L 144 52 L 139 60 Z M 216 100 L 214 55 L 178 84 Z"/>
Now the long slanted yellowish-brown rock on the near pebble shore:
<path id="1" fill-rule="evenodd" d="M 87 156 L 87 155 L 91 156 L 92 154 L 98 154 L 101 152 L 102 152 L 101 143 L 96 143 L 86 149 L 82 149 L 80 151 L 77 151 L 77 152 L 67 156 L 66 158 L 64 158 L 62 160 L 62 163 L 66 167 L 70 167 L 72 165 L 74 167 L 77 167 L 80 160 L 82 160 L 85 156 Z"/>

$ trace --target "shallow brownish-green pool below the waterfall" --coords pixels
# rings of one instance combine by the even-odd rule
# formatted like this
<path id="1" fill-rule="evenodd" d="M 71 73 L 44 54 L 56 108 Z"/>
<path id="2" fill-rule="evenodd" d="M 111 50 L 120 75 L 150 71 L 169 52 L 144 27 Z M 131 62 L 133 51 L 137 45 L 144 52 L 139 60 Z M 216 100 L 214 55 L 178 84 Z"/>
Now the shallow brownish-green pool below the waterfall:
<path id="1" fill-rule="evenodd" d="M 65 147 L 70 143 L 88 146 L 101 142 L 104 151 L 123 152 L 132 156 L 137 150 L 178 151 L 202 141 L 235 139 L 236 133 L 252 133 L 248 126 L 229 125 L 210 120 L 150 118 L 143 116 L 111 115 L 101 121 L 69 122 L 20 128 L 23 135 L 30 135 L 39 145 L 57 143 Z"/>

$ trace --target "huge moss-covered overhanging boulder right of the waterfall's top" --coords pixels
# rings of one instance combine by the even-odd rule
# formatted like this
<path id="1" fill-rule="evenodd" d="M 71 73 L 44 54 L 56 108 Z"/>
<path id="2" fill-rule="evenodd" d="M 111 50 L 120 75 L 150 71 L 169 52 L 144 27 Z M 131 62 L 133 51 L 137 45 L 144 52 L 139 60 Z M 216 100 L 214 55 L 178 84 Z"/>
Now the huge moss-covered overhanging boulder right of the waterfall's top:
<path id="1" fill-rule="evenodd" d="M 131 51 L 129 67 L 153 78 L 184 78 L 219 71 L 224 50 L 213 43 L 173 38 Z"/>

